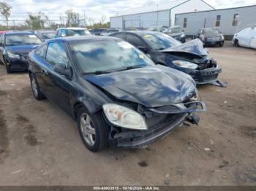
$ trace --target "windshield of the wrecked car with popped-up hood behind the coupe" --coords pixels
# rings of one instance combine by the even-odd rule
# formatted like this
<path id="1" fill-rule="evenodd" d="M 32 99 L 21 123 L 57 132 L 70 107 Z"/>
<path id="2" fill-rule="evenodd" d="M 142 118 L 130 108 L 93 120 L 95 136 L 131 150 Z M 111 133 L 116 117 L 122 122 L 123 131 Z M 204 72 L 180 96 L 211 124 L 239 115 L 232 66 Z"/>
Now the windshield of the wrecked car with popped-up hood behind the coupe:
<path id="1" fill-rule="evenodd" d="M 176 39 L 168 36 L 167 34 L 140 34 L 141 37 L 154 49 L 164 50 L 169 47 L 176 47 L 181 44 Z"/>

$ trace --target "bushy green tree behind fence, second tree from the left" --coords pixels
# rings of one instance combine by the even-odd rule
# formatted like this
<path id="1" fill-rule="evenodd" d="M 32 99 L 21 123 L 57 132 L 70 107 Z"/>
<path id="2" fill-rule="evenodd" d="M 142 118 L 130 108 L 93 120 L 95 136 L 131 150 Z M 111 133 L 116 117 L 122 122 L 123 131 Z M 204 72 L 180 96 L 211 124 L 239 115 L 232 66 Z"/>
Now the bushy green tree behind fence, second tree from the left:
<path id="1" fill-rule="evenodd" d="M 45 23 L 48 22 L 48 16 L 44 12 L 29 12 L 29 18 L 26 20 L 28 26 L 32 29 L 45 28 Z"/>

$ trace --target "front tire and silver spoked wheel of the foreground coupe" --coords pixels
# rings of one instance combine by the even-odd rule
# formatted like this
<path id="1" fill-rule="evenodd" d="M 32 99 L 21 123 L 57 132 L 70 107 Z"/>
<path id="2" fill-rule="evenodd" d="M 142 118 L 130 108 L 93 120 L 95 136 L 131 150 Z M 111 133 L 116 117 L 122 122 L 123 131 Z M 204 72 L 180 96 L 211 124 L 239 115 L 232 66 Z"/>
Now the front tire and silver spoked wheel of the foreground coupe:
<path id="1" fill-rule="evenodd" d="M 99 152 L 107 147 L 109 130 L 102 112 L 90 114 L 82 106 L 77 116 L 78 130 L 86 148 L 91 152 Z"/>

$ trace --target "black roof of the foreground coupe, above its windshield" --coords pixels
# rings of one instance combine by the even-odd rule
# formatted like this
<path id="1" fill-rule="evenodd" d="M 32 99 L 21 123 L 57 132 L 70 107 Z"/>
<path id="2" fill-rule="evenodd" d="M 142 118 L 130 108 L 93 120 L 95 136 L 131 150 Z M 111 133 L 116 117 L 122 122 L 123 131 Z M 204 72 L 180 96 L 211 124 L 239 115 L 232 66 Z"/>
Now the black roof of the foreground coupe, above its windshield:
<path id="1" fill-rule="evenodd" d="M 113 36 L 67 36 L 56 39 L 50 39 L 48 42 L 67 42 L 69 44 L 76 42 L 105 42 L 105 41 L 121 41 Z"/>

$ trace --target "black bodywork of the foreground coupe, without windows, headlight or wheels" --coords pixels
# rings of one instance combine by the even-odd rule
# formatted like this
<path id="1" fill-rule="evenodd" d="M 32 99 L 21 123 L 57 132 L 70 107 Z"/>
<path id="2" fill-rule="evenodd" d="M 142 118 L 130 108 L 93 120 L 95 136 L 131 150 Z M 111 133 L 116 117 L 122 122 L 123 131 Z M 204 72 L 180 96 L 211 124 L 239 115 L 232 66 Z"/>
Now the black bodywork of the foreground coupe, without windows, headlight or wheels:
<path id="1" fill-rule="evenodd" d="M 102 111 L 110 128 L 109 144 L 118 147 L 144 147 L 167 136 L 185 120 L 198 122 L 195 112 L 205 111 L 206 106 L 203 101 L 195 101 L 194 80 L 180 71 L 154 65 L 109 74 L 81 74 L 69 45 L 97 41 L 124 42 L 113 37 L 90 36 L 52 39 L 42 44 L 42 47 L 53 42 L 64 44 L 69 55 L 67 68 L 72 71 L 69 77 L 56 72 L 45 61 L 45 55 L 37 55 L 40 47 L 29 54 L 29 74 L 36 77 L 40 90 L 50 101 L 74 118 L 78 104 L 85 106 L 91 114 Z M 141 114 L 148 129 L 131 130 L 111 124 L 102 109 L 104 104 L 110 103 Z M 197 106 L 198 103 L 201 106 Z"/>

